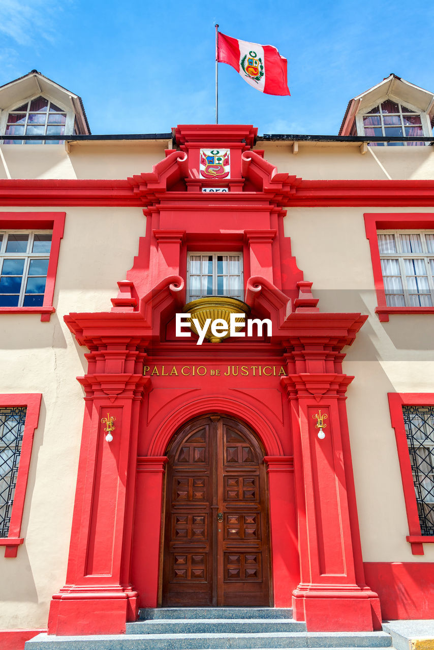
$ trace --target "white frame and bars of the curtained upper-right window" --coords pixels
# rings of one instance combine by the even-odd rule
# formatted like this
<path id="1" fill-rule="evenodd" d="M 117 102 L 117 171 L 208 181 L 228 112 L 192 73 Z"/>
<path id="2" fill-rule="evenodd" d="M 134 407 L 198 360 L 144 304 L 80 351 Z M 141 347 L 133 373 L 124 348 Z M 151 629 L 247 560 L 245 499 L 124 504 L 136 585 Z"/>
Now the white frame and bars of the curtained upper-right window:
<path id="1" fill-rule="evenodd" d="M 400 274 L 401 274 L 401 283 L 402 283 L 402 288 L 403 288 L 403 293 L 399 294 L 390 294 L 387 292 L 387 288 L 385 286 L 385 295 L 386 295 L 386 301 L 388 299 L 388 296 L 396 296 L 396 295 L 403 295 L 404 297 L 404 305 L 389 305 L 387 304 L 388 307 L 394 307 L 394 306 L 403 306 L 403 307 L 426 307 L 426 306 L 434 306 L 434 278 L 433 278 L 433 273 L 431 272 L 431 268 L 429 265 L 429 261 L 432 259 L 434 260 L 434 252 L 430 253 L 428 252 L 427 249 L 427 244 L 426 244 L 426 239 L 425 235 L 434 235 L 434 230 L 432 229 L 420 229 L 420 230 L 410 230 L 410 229 L 398 229 L 398 230 L 377 230 L 377 239 L 378 235 L 394 235 L 395 236 L 395 242 L 396 242 L 396 248 L 397 252 L 396 253 L 381 253 L 380 251 L 380 246 L 379 246 L 379 255 L 380 255 L 380 263 L 382 259 L 398 259 L 398 263 L 400 266 Z M 406 253 L 403 252 L 402 250 L 402 245 L 401 245 L 401 237 L 400 235 L 419 235 L 420 236 L 420 241 L 422 244 L 422 253 Z M 409 291 L 409 287 L 407 286 L 407 274 L 405 272 L 405 266 L 404 266 L 404 259 L 423 259 L 424 264 L 425 264 L 425 269 L 426 269 L 426 277 L 427 277 L 427 283 L 429 287 L 429 294 L 427 293 L 414 293 Z M 383 273 L 382 273 L 383 275 Z M 387 276 L 389 277 L 389 276 Z M 385 276 L 383 275 L 383 282 L 384 282 Z M 409 296 L 431 296 L 431 305 L 413 305 L 411 304 Z"/>

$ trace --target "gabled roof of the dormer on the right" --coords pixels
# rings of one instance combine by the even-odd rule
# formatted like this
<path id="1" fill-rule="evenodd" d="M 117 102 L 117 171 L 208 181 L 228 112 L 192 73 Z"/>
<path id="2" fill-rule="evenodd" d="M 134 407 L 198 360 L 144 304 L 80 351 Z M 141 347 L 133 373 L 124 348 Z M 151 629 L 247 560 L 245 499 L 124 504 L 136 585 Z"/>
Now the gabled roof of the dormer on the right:
<path id="1" fill-rule="evenodd" d="M 429 90 L 415 86 L 409 81 L 405 81 L 405 79 L 401 79 L 394 73 L 390 73 L 376 86 L 372 86 L 372 88 L 349 100 L 339 129 L 339 135 L 349 135 L 355 116 L 386 98 L 393 99 L 404 105 L 411 104 L 420 111 L 426 112 L 429 114 L 431 126 L 434 125 L 434 94 Z"/>

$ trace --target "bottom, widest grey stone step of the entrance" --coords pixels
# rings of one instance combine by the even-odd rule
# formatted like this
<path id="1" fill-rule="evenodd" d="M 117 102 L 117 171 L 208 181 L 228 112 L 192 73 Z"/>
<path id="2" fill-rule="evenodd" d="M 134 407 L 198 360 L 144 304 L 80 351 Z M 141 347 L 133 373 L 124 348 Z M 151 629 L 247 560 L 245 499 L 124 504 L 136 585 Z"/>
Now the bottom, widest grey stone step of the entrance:
<path id="1" fill-rule="evenodd" d="M 25 650 L 258 650 L 278 648 L 390 647 L 386 632 L 260 632 L 258 634 L 111 634 L 48 636 L 38 634 Z"/>

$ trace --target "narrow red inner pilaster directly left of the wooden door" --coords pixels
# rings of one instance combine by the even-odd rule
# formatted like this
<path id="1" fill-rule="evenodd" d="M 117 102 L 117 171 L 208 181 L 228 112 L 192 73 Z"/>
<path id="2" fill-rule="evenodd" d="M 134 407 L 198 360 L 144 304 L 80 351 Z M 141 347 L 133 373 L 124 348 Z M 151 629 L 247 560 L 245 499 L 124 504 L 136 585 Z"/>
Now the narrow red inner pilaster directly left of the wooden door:
<path id="1" fill-rule="evenodd" d="M 167 456 L 137 458 L 136 502 L 140 517 L 134 530 L 133 584 L 140 593 L 141 607 L 156 607 L 163 510 L 163 480 Z"/>

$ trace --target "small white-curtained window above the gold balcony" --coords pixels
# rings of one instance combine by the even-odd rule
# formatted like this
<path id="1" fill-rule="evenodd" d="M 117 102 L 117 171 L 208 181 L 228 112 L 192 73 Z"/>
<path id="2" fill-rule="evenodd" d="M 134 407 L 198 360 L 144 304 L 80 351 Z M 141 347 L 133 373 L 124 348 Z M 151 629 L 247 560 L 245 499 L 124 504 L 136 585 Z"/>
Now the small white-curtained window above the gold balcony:
<path id="1" fill-rule="evenodd" d="M 206 296 L 243 300 L 241 253 L 188 253 L 187 302 Z"/>

